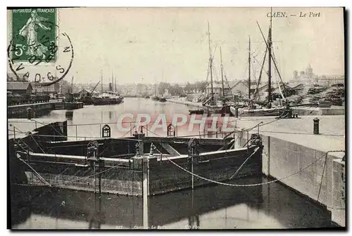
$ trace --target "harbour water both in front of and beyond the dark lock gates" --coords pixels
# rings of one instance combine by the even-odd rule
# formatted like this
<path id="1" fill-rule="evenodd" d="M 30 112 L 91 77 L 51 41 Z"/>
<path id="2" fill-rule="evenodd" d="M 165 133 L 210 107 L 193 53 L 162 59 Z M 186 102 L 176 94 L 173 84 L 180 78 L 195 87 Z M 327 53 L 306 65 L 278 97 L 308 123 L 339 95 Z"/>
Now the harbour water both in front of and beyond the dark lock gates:
<path id="1" fill-rule="evenodd" d="M 159 103 L 144 98 L 126 98 L 125 103 L 86 106 L 67 114 L 52 111 L 45 117 L 65 119 L 68 124 L 113 123 L 123 112 L 167 116 L 188 114 L 189 107 Z M 112 136 L 119 132 L 111 124 Z M 75 136 L 75 126 L 68 129 Z M 165 135 L 163 131 L 159 131 Z M 197 131 L 198 132 L 198 131 Z M 78 136 L 99 136 L 100 126 L 77 126 Z M 265 177 L 242 178 L 233 183 L 265 183 Z M 252 229 L 252 228 L 329 228 L 331 214 L 279 183 L 250 188 L 208 185 L 149 197 L 148 225 L 143 225 L 141 197 L 60 190 L 44 187 L 19 187 L 26 199 L 11 204 L 14 229 Z M 30 196 L 30 197 L 29 197 Z"/>

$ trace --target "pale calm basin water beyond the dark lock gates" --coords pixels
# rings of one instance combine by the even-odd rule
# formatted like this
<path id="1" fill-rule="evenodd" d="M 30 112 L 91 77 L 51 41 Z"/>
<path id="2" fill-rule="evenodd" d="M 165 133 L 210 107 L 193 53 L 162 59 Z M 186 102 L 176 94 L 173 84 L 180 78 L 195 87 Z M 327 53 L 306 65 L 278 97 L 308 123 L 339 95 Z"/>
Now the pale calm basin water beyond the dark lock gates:
<path id="1" fill-rule="evenodd" d="M 112 137 L 130 136 L 134 132 L 133 124 L 117 124 L 121 122 L 121 114 L 132 114 L 130 117 L 125 117 L 123 122 L 132 122 L 136 119 L 137 114 L 149 114 L 151 120 L 155 121 L 159 114 L 165 114 L 166 122 L 172 122 L 173 114 L 189 114 L 191 108 L 186 105 L 176 103 L 160 103 L 146 98 L 125 98 L 125 103 L 118 105 L 85 105 L 82 109 L 73 110 L 72 115 L 67 115 L 65 110 L 54 110 L 43 118 L 54 118 L 58 120 L 68 119 L 68 136 L 75 140 L 76 134 L 78 137 L 100 137 L 101 124 L 109 124 L 111 127 Z M 75 124 L 81 124 L 76 126 Z M 86 124 L 86 125 L 84 125 Z M 124 128 L 125 130 L 121 129 Z M 194 126 L 196 128 L 196 125 Z M 188 126 L 187 126 L 188 128 Z M 149 125 L 148 129 L 151 129 Z M 166 130 L 158 128 L 155 133 L 144 131 L 148 136 L 156 136 L 155 133 L 161 136 L 166 136 Z M 177 127 L 178 136 L 199 134 L 199 130 L 195 129 L 188 132 L 185 127 Z M 84 138 L 77 138 L 82 140 Z"/>

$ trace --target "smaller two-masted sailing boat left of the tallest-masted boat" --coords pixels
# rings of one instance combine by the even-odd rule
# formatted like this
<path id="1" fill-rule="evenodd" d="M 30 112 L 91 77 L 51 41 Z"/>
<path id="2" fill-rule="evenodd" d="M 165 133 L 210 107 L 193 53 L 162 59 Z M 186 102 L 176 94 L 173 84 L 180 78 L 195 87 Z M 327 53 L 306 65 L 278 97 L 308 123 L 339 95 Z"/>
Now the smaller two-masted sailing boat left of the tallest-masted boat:
<path id="1" fill-rule="evenodd" d="M 214 88 L 213 88 L 213 57 L 211 55 L 211 47 L 210 47 L 210 27 L 209 27 L 209 22 L 208 22 L 208 41 L 209 41 L 209 71 L 210 71 L 210 96 L 209 98 L 203 102 L 203 112 L 206 112 L 208 114 L 222 114 L 224 113 L 224 105 L 225 105 L 225 100 L 220 101 L 215 101 L 214 99 Z M 221 65 L 222 69 L 222 65 Z M 224 81 L 222 78 L 222 93 L 224 93 Z M 225 96 L 224 98 L 225 99 Z"/>

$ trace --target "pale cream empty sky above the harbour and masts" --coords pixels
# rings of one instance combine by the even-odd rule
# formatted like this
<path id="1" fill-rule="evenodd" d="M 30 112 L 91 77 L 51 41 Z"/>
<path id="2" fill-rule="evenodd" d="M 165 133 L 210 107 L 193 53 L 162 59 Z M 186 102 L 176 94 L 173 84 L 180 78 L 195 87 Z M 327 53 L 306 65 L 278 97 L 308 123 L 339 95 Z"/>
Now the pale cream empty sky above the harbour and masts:
<path id="1" fill-rule="evenodd" d="M 318 75 L 344 74 L 342 8 L 272 11 L 287 14 L 272 18 L 275 58 L 284 81 L 308 64 Z M 61 8 L 59 30 L 69 35 L 75 50 L 65 79 L 96 82 L 102 72 L 108 81 L 113 72 L 118 84 L 206 80 L 208 22 L 212 51 L 216 48 L 215 80 L 220 79 L 220 46 L 227 79 L 247 78 L 249 36 L 258 77 L 265 44 L 256 21 L 267 38 L 269 12 L 270 8 Z M 306 17 L 299 17 L 301 12 Z M 310 12 L 320 16 L 309 17 Z"/>

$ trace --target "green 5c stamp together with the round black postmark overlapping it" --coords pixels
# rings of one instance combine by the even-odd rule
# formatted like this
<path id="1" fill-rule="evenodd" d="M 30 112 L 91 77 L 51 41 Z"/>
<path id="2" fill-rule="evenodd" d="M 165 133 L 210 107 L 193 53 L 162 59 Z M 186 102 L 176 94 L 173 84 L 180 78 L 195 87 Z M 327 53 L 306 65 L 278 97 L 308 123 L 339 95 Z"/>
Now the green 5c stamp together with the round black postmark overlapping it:
<path id="1" fill-rule="evenodd" d="M 72 67 L 74 52 L 68 34 L 58 34 L 56 8 L 11 11 L 12 37 L 7 55 L 15 79 L 42 82 L 42 86 L 61 81 Z"/>

